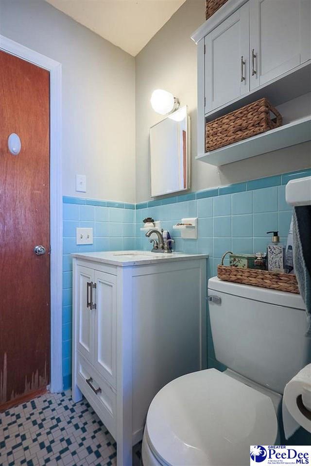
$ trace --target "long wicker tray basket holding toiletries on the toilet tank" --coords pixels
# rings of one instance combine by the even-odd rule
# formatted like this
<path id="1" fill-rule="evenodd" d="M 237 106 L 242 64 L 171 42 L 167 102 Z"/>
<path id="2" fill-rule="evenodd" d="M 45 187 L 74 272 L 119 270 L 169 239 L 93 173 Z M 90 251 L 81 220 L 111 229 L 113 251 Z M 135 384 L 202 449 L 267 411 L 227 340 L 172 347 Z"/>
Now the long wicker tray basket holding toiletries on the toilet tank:
<path id="1" fill-rule="evenodd" d="M 227 254 L 227 252 L 225 254 Z M 256 270 L 252 268 L 224 266 L 225 254 L 222 258 L 222 264 L 217 267 L 217 275 L 221 280 L 299 294 L 298 283 L 295 275 L 291 275 L 289 273 L 268 272 L 266 270 Z"/>

